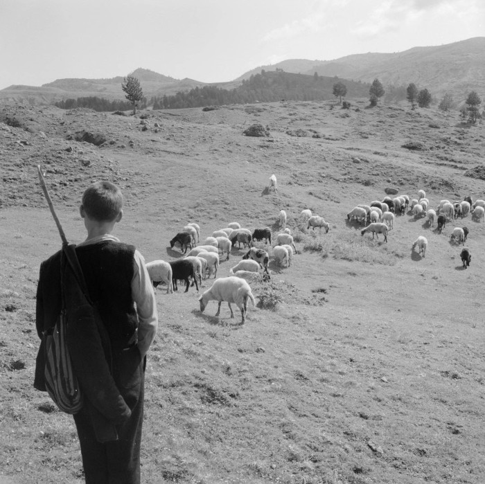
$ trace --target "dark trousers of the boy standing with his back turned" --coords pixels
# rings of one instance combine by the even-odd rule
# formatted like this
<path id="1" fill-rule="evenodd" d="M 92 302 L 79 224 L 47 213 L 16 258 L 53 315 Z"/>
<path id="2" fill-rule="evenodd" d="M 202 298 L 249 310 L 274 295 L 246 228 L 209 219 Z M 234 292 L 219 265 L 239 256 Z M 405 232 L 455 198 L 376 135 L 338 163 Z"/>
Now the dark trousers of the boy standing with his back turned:
<path id="1" fill-rule="evenodd" d="M 140 446 L 144 399 L 142 365 L 139 364 L 134 373 L 138 373 L 137 378 L 135 378 L 139 380 L 139 386 L 136 385 L 138 395 L 136 395 L 137 398 L 133 398 L 135 389 L 133 387 L 129 392 L 130 397 L 128 395 L 125 397 L 124 392 L 122 392 L 132 410 L 132 415 L 124 424 L 116 425 L 118 440 L 98 442 L 89 413 L 89 402 L 86 402 L 81 411 L 74 415 L 87 484 L 140 483 Z"/>

